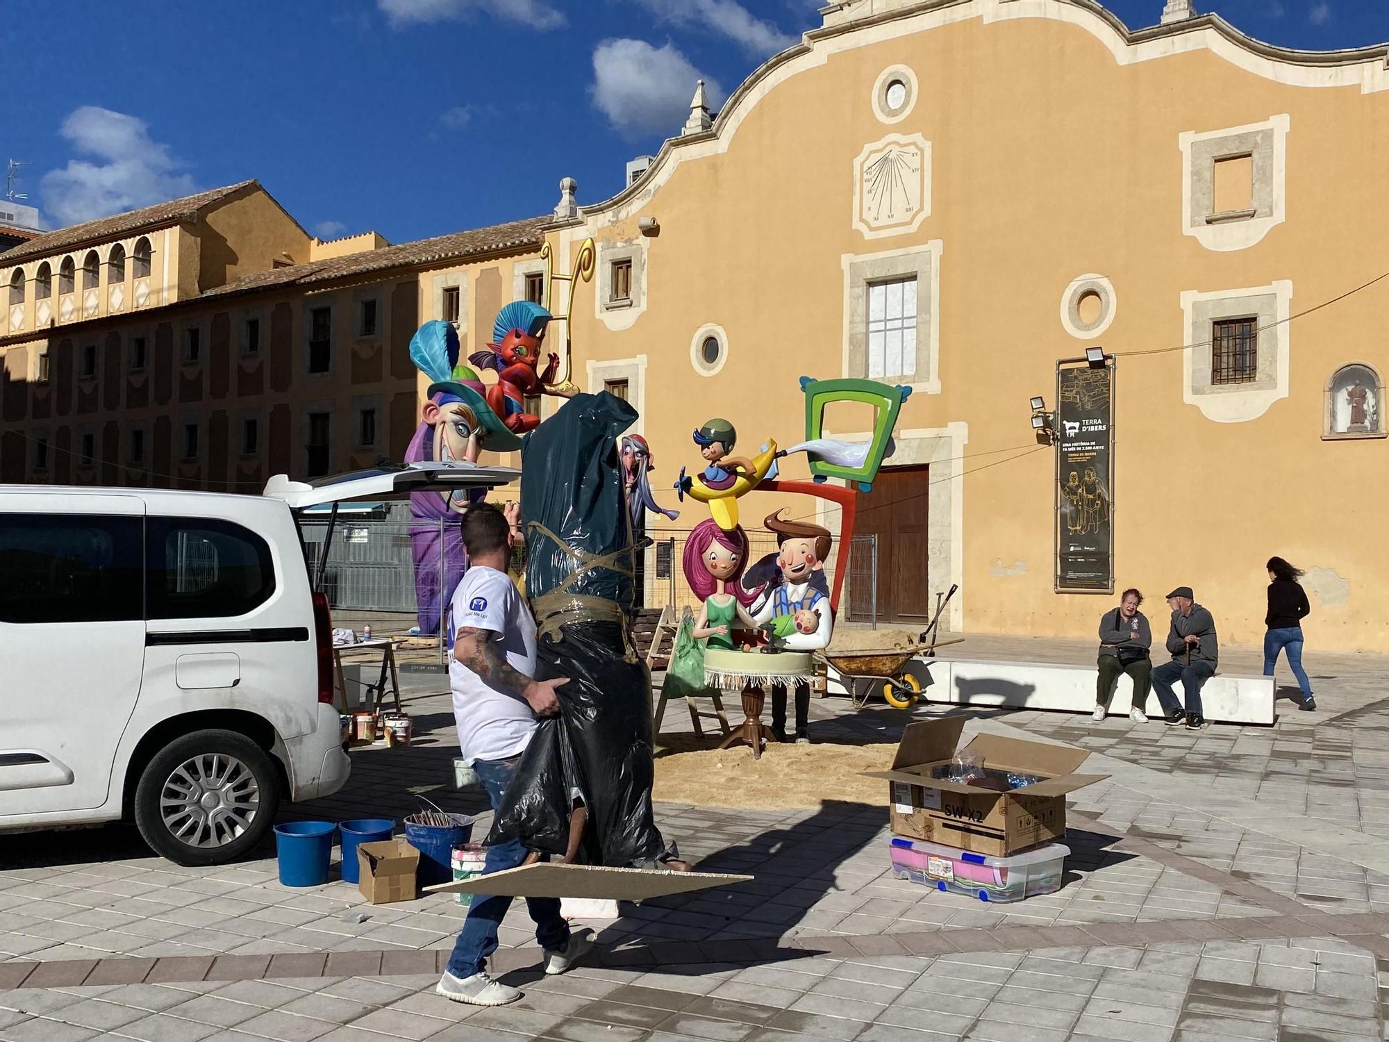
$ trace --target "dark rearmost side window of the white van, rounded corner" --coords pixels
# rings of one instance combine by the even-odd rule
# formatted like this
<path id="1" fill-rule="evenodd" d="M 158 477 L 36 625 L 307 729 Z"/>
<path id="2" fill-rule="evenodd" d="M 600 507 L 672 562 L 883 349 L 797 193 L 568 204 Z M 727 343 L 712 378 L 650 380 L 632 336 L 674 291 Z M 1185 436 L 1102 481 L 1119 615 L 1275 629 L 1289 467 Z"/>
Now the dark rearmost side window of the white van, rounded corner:
<path id="1" fill-rule="evenodd" d="M 229 618 L 275 592 L 269 546 L 249 528 L 204 517 L 146 520 L 149 618 Z"/>

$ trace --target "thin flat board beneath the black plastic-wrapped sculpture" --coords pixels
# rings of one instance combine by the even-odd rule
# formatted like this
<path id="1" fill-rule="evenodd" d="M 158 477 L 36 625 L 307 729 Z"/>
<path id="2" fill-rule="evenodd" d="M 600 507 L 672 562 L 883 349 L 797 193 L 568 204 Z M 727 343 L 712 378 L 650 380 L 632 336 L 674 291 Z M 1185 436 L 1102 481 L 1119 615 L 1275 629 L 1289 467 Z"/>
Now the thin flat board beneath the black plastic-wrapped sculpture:
<path id="1" fill-rule="evenodd" d="M 425 886 L 426 893 L 490 893 L 497 898 L 607 898 L 650 900 L 672 893 L 749 882 L 751 875 L 671 873 L 660 868 L 604 868 L 592 864 L 528 864 L 460 882 Z"/>

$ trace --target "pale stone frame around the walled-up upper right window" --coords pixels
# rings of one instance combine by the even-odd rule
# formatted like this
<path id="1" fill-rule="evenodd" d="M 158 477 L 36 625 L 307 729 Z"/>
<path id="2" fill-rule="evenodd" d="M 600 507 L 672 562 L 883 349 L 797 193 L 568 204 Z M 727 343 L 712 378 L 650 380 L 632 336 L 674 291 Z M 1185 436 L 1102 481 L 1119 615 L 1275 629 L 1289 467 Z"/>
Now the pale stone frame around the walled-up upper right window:
<path id="1" fill-rule="evenodd" d="M 1178 136 L 1182 150 L 1182 235 L 1193 236 L 1207 250 L 1247 250 L 1286 220 L 1288 131 L 1286 113 L 1257 124 L 1221 131 L 1186 131 Z M 1253 156 L 1253 210 L 1213 213 L 1215 161 Z"/>

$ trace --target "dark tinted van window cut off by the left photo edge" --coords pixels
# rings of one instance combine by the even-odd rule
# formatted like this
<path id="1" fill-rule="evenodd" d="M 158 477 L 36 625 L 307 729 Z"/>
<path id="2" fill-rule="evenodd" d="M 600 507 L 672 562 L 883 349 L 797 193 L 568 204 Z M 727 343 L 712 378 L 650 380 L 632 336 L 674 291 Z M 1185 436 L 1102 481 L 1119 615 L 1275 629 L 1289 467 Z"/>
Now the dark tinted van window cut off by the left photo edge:
<path id="1" fill-rule="evenodd" d="M 143 618 L 140 521 L 0 514 L 0 622 Z"/>

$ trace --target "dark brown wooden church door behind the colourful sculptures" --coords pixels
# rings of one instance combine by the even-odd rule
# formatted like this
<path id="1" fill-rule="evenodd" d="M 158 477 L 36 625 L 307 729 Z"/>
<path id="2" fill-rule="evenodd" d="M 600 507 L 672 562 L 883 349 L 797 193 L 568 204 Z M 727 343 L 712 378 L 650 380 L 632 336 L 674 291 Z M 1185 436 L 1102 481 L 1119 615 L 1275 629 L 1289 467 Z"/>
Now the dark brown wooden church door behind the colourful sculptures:
<path id="1" fill-rule="evenodd" d="M 882 470 L 872 492 L 858 504 L 857 531 L 878 536 L 878 621 L 922 622 L 931 618 L 931 589 L 926 581 L 926 517 L 929 468 Z M 868 554 L 856 575 L 868 572 Z M 853 593 L 851 617 L 870 620 L 872 599 L 864 589 Z"/>

